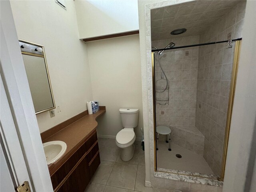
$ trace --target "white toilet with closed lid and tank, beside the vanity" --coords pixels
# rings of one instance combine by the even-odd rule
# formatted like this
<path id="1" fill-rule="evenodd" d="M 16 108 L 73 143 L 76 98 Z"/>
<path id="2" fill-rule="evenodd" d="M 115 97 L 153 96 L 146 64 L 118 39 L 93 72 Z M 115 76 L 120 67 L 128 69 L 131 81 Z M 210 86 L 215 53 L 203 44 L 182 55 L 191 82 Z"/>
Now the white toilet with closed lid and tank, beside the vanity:
<path id="1" fill-rule="evenodd" d="M 129 161 L 134 154 L 135 133 L 138 126 L 139 109 L 119 109 L 123 129 L 116 135 L 116 145 L 121 148 L 120 157 L 123 161 Z"/>

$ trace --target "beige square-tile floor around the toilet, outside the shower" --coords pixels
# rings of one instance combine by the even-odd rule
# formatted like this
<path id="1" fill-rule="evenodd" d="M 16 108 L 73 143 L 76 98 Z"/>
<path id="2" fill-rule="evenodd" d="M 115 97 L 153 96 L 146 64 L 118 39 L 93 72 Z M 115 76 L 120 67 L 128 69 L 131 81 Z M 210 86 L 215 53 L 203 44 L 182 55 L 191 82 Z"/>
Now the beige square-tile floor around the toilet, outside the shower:
<path id="1" fill-rule="evenodd" d="M 100 166 L 85 192 L 151 192 L 145 183 L 145 157 L 140 142 L 135 141 L 133 158 L 124 162 L 115 139 L 99 138 Z"/>

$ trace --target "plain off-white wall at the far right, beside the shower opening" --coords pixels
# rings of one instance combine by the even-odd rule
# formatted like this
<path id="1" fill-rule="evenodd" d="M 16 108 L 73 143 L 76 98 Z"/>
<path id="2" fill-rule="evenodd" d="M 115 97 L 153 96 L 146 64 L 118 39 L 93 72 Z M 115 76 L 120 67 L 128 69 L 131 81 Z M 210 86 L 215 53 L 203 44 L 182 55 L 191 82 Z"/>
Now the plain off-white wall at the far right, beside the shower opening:
<path id="1" fill-rule="evenodd" d="M 256 117 L 256 1 L 248 0 L 242 30 L 242 47 L 228 142 L 224 192 L 249 191 L 248 182 L 255 170 Z M 252 143 L 254 140 L 254 143 Z M 253 156 L 254 155 L 254 156 Z M 248 163 L 250 162 L 250 163 Z M 248 167 L 249 166 L 249 167 Z M 254 173 L 255 175 L 255 173 Z M 255 186 L 255 176 L 254 180 Z M 253 185 L 252 185 L 253 186 Z M 255 188 L 251 189 L 255 191 Z"/>

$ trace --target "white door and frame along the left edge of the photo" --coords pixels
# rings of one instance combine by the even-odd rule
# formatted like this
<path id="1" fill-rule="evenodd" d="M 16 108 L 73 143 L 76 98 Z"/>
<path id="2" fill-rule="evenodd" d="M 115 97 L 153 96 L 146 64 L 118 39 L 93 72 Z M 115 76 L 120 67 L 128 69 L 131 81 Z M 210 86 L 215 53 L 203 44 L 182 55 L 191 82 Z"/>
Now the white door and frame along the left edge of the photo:
<path id="1" fill-rule="evenodd" d="M 33 192 L 52 192 L 9 0 L 0 1 L 0 18 L 0 191 L 28 181 Z"/>

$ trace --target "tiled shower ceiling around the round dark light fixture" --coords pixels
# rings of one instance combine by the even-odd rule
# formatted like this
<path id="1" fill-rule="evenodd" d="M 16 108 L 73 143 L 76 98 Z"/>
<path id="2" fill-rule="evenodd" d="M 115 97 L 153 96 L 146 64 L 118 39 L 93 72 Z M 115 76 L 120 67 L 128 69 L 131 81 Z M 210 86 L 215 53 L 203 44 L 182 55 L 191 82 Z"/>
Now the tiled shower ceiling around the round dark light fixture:
<path id="1" fill-rule="evenodd" d="M 202 34 L 239 2 L 239 0 L 195 0 L 152 9 L 150 14 L 152 41 Z M 178 28 L 186 28 L 187 31 L 179 35 L 170 34 Z"/>

